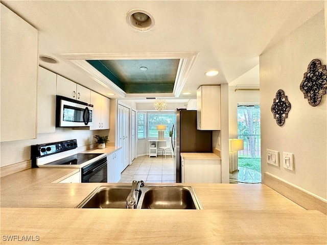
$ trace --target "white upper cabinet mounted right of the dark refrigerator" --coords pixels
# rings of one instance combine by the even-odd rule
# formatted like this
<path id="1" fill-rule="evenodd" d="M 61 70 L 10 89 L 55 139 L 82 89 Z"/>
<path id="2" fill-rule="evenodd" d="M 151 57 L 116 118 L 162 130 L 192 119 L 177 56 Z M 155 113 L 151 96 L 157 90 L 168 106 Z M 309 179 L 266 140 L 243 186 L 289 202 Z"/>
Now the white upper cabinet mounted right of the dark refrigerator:
<path id="1" fill-rule="evenodd" d="M 197 129 L 220 130 L 220 85 L 202 85 L 196 93 Z"/>

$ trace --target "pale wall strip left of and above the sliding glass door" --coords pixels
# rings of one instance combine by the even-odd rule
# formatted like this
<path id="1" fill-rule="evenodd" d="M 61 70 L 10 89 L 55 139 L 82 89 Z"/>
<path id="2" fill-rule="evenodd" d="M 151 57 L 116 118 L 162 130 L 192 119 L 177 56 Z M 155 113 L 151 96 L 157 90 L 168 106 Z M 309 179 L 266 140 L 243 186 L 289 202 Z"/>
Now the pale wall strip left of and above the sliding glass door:
<path id="1" fill-rule="evenodd" d="M 259 74 L 258 74 L 259 75 Z M 260 92 L 259 91 L 245 91 L 237 90 L 236 86 L 229 86 L 228 91 L 228 125 L 229 125 L 229 138 L 237 139 L 237 104 L 238 103 L 259 103 Z"/>

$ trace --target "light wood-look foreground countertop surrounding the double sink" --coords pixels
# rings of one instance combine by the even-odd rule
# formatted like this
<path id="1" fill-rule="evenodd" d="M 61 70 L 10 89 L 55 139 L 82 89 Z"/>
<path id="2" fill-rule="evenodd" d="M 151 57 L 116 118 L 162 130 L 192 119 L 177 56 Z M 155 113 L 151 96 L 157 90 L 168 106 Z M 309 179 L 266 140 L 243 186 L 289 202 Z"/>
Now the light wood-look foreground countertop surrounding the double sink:
<path id="1" fill-rule="evenodd" d="M 117 184 L 51 183 L 74 170 L 1 178 L 1 244 L 326 244 L 326 215 L 264 184 L 191 184 L 203 210 L 75 209 L 97 186 Z"/>

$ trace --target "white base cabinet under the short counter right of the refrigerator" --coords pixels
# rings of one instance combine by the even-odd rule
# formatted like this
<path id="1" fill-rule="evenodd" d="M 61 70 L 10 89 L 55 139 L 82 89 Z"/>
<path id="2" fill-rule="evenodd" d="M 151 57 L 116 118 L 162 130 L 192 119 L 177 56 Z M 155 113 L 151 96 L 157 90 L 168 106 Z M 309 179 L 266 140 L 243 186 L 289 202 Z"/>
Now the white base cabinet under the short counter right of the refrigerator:
<path id="1" fill-rule="evenodd" d="M 221 183 L 220 159 L 181 160 L 182 183 Z"/>

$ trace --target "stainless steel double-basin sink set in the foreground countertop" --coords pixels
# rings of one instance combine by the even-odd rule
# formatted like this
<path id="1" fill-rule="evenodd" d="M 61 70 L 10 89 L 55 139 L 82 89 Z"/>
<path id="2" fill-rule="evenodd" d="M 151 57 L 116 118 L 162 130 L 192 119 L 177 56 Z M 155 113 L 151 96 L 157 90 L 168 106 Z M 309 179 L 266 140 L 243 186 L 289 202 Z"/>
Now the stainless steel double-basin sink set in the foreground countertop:
<path id="1" fill-rule="evenodd" d="M 76 208 L 126 208 L 131 189 L 130 186 L 99 186 Z M 136 209 L 203 209 L 192 186 L 145 185 L 139 188 L 136 197 Z"/>

